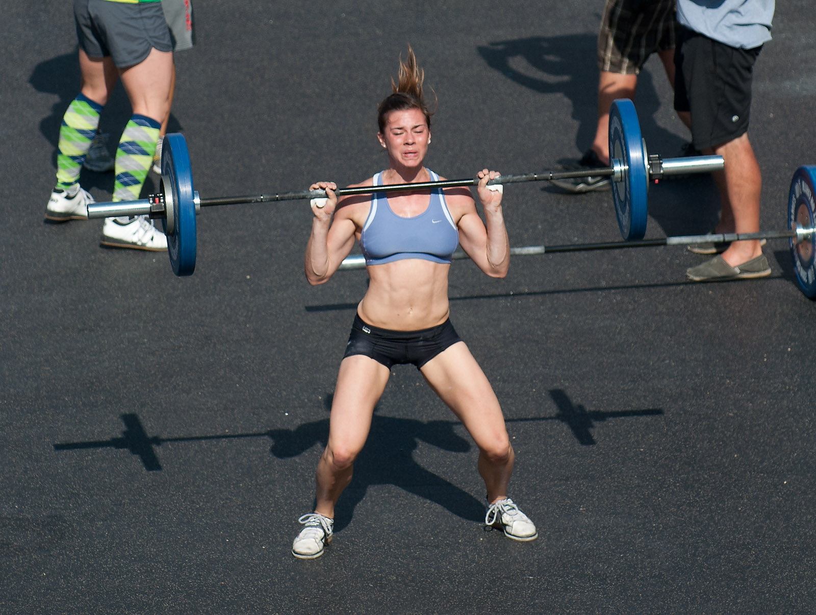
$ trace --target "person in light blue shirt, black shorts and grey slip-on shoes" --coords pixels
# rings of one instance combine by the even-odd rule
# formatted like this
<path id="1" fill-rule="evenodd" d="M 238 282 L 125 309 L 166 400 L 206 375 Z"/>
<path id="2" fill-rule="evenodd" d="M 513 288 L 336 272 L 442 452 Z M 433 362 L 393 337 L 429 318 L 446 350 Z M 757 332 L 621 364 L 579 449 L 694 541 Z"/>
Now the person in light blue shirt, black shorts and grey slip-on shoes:
<path id="1" fill-rule="evenodd" d="M 715 233 L 760 230 L 762 175 L 748 140 L 748 121 L 753 67 L 770 40 L 773 18 L 774 0 L 677 0 L 674 107 L 690 112 L 694 147 L 725 160 L 725 169 L 714 173 L 721 201 Z M 690 249 L 716 255 L 686 272 L 694 282 L 770 274 L 760 240 Z"/>

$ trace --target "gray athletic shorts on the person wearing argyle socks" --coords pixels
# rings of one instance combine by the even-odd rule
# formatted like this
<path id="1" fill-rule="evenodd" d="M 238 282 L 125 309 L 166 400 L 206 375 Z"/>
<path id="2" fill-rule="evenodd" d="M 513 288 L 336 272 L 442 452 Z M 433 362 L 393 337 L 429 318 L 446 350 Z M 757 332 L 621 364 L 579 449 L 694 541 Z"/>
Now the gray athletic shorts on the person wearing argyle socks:
<path id="1" fill-rule="evenodd" d="M 82 51 L 110 56 L 120 69 L 139 64 L 153 47 L 173 51 L 161 2 L 74 0 L 73 18 Z"/>

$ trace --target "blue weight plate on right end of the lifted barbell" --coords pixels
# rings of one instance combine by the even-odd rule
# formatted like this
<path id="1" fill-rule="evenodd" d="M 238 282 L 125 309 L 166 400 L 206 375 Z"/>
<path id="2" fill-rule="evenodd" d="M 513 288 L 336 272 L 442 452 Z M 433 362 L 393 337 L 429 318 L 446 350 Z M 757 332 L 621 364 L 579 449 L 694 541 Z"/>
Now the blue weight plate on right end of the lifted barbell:
<path id="1" fill-rule="evenodd" d="M 641 124 L 632 100 L 615 100 L 610 108 L 610 160 L 623 163 L 623 177 L 612 178 L 614 212 L 620 234 L 627 241 L 642 239 L 649 215 L 648 189 Z"/>

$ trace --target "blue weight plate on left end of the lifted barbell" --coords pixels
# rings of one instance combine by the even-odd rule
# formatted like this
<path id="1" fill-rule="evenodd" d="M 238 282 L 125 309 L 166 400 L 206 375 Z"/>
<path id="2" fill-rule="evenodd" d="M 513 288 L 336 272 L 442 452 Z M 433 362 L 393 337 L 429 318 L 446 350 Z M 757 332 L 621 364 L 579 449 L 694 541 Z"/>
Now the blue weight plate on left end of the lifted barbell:
<path id="1" fill-rule="evenodd" d="M 162 183 L 173 199 L 168 214 L 174 224 L 163 222 L 167 234 L 167 253 L 176 275 L 192 275 L 196 269 L 196 203 L 193 200 L 193 172 L 184 136 L 173 132 L 162 144 Z"/>

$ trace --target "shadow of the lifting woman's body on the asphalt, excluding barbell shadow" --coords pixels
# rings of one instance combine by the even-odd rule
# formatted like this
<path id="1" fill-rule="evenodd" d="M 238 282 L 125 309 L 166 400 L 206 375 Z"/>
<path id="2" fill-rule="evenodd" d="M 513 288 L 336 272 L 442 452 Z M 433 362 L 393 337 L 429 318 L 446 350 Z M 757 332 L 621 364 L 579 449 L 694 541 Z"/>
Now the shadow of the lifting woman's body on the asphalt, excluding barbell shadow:
<path id="1" fill-rule="evenodd" d="M 330 408 L 330 395 L 326 404 Z M 378 484 L 392 484 L 405 489 L 437 503 L 462 519 L 484 520 L 483 503 L 420 466 L 413 456 L 420 441 L 450 452 L 468 452 L 470 442 L 457 435 L 454 426 L 452 421 L 424 422 L 380 417 L 375 408 L 366 446 L 354 463 L 352 482 L 344 490 L 335 509 L 335 530 L 348 525 L 354 508 L 366 497 L 369 486 Z M 296 457 L 316 443 L 326 446 L 329 419 L 304 423 L 295 430 L 270 430 L 268 436 L 273 439 L 270 452 L 275 457 Z"/>

